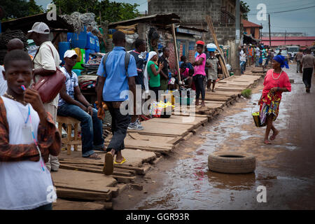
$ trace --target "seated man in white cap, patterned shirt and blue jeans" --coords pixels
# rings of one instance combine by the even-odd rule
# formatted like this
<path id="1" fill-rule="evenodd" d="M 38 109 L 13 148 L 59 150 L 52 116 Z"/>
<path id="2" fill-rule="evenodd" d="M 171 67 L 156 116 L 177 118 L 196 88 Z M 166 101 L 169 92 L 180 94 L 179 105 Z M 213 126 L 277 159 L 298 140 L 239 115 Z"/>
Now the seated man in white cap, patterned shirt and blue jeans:
<path id="1" fill-rule="evenodd" d="M 80 120 L 83 158 L 100 160 L 94 150 L 106 151 L 104 147 L 102 120 L 97 110 L 87 102 L 78 86 L 78 76 L 72 71 L 78 55 L 74 50 L 64 52 L 64 67 L 60 70 L 66 76 L 66 83 L 60 90 L 57 114 Z"/>

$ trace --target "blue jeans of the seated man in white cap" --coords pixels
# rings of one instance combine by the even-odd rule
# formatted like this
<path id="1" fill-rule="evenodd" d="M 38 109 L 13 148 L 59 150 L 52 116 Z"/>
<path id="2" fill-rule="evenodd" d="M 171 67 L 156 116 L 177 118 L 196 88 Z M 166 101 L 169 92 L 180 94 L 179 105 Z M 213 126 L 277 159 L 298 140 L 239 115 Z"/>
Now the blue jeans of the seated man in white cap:
<path id="1" fill-rule="evenodd" d="M 97 110 L 93 109 L 91 117 L 90 114 L 76 105 L 64 104 L 58 107 L 57 115 L 80 120 L 83 157 L 92 155 L 93 150 L 104 148 L 102 120 L 97 118 Z"/>

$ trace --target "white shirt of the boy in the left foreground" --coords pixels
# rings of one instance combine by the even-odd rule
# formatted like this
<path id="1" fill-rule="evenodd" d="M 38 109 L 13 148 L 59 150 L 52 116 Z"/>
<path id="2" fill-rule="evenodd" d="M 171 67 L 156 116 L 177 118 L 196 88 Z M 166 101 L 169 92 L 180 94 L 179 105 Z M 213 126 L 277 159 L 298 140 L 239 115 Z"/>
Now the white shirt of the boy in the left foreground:
<path id="1" fill-rule="evenodd" d="M 23 137 L 22 127 L 25 125 L 29 107 L 12 99 L 1 97 L 6 107 L 10 144 L 31 144 L 31 138 Z M 30 106 L 31 125 L 37 140 L 39 117 Z M 27 124 L 30 125 L 29 120 Z M 43 162 L 43 161 L 42 161 Z M 44 165 L 44 162 L 43 162 Z M 41 162 L 19 161 L 0 162 L 0 209 L 35 209 L 51 203 L 47 200 L 52 191 L 50 172 Z"/>

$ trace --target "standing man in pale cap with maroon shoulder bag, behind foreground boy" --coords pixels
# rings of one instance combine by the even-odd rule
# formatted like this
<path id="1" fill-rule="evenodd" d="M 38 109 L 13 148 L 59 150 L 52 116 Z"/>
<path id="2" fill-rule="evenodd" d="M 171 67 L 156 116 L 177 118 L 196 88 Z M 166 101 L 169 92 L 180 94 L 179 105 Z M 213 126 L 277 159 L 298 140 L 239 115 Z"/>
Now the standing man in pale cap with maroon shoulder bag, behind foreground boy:
<path id="1" fill-rule="evenodd" d="M 59 53 L 51 41 L 49 41 L 50 29 L 45 22 L 35 22 L 28 33 L 28 37 L 33 39 L 34 43 L 39 46 L 33 59 L 34 77 L 35 81 L 38 82 L 41 76 L 51 76 L 55 73 L 56 68 L 59 68 Z M 58 99 L 59 94 L 52 102 L 44 104 L 45 110 L 52 115 L 55 123 L 57 120 Z M 46 167 L 51 171 L 57 171 L 59 168 L 58 158 L 50 155 Z"/>

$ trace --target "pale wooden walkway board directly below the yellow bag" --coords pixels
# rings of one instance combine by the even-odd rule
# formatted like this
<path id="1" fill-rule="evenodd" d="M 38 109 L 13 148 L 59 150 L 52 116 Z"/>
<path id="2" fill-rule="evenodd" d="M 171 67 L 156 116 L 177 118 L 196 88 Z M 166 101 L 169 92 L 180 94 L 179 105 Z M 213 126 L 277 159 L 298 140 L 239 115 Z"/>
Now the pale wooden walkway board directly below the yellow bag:
<path id="1" fill-rule="evenodd" d="M 184 116 L 171 116 L 171 118 L 153 118 L 153 122 L 158 123 L 169 123 L 169 124 L 182 124 L 182 125 L 193 125 L 193 129 L 196 129 L 203 123 L 208 121 L 208 118 L 191 117 L 191 120 Z"/>

